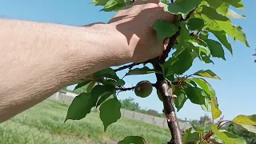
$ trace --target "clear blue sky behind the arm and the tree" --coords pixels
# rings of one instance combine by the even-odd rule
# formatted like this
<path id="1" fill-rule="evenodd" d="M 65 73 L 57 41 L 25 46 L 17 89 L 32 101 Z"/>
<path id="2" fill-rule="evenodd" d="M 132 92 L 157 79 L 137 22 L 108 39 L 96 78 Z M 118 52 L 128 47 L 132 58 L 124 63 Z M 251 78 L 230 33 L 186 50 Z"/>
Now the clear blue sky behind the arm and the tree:
<path id="1" fill-rule="evenodd" d="M 226 51 L 226 61 L 215 58 L 214 65 L 203 64 L 195 61 L 194 66 L 186 74 L 192 74 L 198 70 L 213 70 L 218 74 L 221 81 L 209 79 L 210 84 L 216 90 L 218 103 L 222 114 L 226 119 L 231 119 L 238 114 L 256 114 L 256 63 L 252 54 L 255 52 L 254 40 L 256 29 L 255 1 L 243 0 L 246 7 L 246 19 L 233 20 L 236 25 L 243 27 L 250 48 L 241 42 L 232 42 L 234 55 Z M 36 22 L 54 22 L 70 26 L 82 26 L 92 22 L 108 22 L 114 13 L 99 12 L 101 7 L 89 4 L 87 0 L 0 0 L 0 17 L 29 20 Z M 123 75 L 124 73 L 121 73 Z M 155 82 L 154 74 L 143 76 L 130 76 L 125 78 L 126 86 L 136 85 L 141 80 Z M 162 111 L 162 102 L 154 93 L 148 98 L 137 98 L 133 92 L 125 92 L 118 95 L 118 98 L 135 98 L 142 108 Z M 182 110 L 178 111 L 178 118 L 199 119 L 206 114 L 201 106 L 186 101 Z"/>

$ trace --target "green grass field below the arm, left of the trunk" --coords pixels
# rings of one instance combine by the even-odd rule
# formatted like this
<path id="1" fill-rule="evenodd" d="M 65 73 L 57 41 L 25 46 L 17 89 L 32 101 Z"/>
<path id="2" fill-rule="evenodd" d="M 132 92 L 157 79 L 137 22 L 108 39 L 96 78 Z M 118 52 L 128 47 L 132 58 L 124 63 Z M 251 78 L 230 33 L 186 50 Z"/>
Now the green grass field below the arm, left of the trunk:
<path id="1" fill-rule="evenodd" d="M 25 143 L 98 143 L 114 140 L 118 142 L 129 135 L 142 136 L 146 142 L 160 144 L 170 141 L 168 129 L 139 122 L 130 118 L 120 118 L 110 125 L 106 133 L 99 113 L 91 112 L 79 121 L 66 118 L 68 106 L 46 100 L 0 124 L 0 144 Z"/>

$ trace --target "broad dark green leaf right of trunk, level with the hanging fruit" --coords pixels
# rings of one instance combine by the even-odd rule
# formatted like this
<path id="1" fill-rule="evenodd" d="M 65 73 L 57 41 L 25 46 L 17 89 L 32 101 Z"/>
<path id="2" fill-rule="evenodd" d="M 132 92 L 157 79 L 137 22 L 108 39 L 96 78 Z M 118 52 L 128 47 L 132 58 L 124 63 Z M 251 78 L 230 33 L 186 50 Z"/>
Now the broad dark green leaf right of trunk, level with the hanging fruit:
<path id="1" fill-rule="evenodd" d="M 184 90 L 186 91 L 187 98 L 189 98 L 191 102 L 198 105 L 205 103 L 206 94 L 204 90 L 191 86 L 186 87 Z"/>

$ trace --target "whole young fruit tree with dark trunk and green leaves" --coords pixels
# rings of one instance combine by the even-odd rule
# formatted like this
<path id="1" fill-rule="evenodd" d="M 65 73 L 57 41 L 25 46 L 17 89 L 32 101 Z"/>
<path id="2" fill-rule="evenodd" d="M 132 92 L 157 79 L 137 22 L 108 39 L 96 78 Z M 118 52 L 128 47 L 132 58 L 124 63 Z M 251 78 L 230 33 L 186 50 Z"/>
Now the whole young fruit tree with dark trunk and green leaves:
<path id="1" fill-rule="evenodd" d="M 138 97 L 146 98 L 151 94 L 154 87 L 157 89 L 156 95 L 163 103 L 163 111 L 170 129 L 170 142 L 168 143 L 246 143 L 243 138 L 227 130 L 221 130 L 221 128 L 232 122 L 237 126 L 243 126 L 247 130 L 253 131 L 256 120 L 252 117 L 238 115 L 232 121 L 221 118 L 218 124 L 214 124 L 214 119 L 219 118 L 222 111 L 218 110 L 215 91 L 205 78 L 219 80 L 221 78 L 211 70 L 198 70 L 194 74 L 186 74 L 196 58 L 204 63 L 214 63 L 213 58 L 226 60 L 223 49 L 227 49 L 232 54 L 232 46 L 227 40 L 227 35 L 234 41 L 238 40 L 250 47 L 242 27 L 235 26 L 230 21 L 230 18 L 246 18 L 230 9 L 233 6 L 244 10 L 242 1 L 171 0 L 169 2 L 163 0 L 162 2 L 166 3 L 163 10 L 175 14 L 177 17 L 174 23 L 164 20 L 154 22 L 153 28 L 157 32 L 158 40 L 170 38 L 170 42 L 162 55 L 146 62 L 127 64 L 115 70 L 107 68 L 91 74 L 89 79 L 78 83 L 76 86 L 75 89 L 88 86 L 90 90 L 86 90 L 74 98 L 67 112 L 66 120 L 85 118 L 92 107 L 100 106 L 100 118 L 106 131 L 107 126 L 121 118 L 121 103 L 118 101 L 116 93 L 134 90 Z M 92 2 L 96 6 L 103 6 L 102 11 L 106 12 L 121 10 L 132 3 L 129 0 L 94 0 Z M 213 34 L 218 40 L 210 39 L 209 34 Z M 152 68 L 146 64 L 151 64 Z M 138 65 L 142 68 L 135 67 Z M 125 69 L 129 69 L 125 77 L 154 73 L 157 82 L 152 84 L 144 80 L 138 82 L 134 87 L 126 88 L 124 87 L 126 82 L 116 74 L 117 71 Z M 212 112 L 213 122 L 210 123 L 210 130 L 192 125 L 182 134 L 174 106 L 180 110 L 186 100 L 202 106 L 203 110 Z M 249 125 L 253 127 L 248 128 Z M 127 136 L 119 143 L 137 144 L 146 143 L 146 140 L 133 135 Z"/>

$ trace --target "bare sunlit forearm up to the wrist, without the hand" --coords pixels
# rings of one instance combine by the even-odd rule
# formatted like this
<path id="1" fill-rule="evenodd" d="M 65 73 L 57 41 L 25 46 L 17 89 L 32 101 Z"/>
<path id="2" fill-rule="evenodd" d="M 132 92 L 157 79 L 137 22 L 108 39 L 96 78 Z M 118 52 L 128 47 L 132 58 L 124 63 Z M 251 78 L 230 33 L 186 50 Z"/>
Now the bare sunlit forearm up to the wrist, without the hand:
<path id="1" fill-rule="evenodd" d="M 105 26 L 0 20 L 0 122 L 79 78 L 125 62 L 125 37 Z"/>

